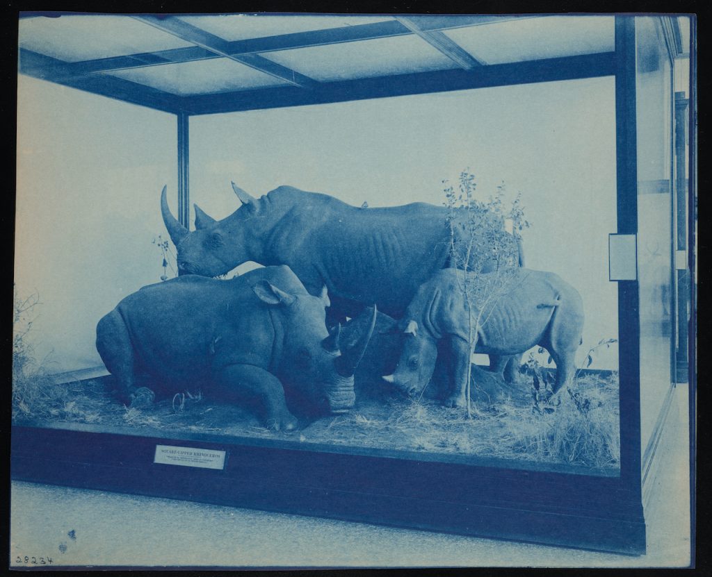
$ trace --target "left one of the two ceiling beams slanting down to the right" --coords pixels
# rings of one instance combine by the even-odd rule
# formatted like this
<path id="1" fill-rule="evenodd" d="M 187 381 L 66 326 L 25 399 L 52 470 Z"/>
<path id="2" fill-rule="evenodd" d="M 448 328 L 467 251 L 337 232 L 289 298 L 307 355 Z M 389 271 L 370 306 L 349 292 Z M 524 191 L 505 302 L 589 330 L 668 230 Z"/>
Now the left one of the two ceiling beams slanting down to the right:
<path id="1" fill-rule="evenodd" d="M 286 66 L 273 62 L 272 60 L 263 58 L 258 54 L 233 55 L 230 53 L 229 43 L 227 41 L 174 16 L 164 18 L 159 18 L 158 16 L 133 16 L 133 18 L 150 24 L 150 26 L 154 26 L 164 32 L 171 33 L 181 40 L 210 50 L 219 56 L 235 60 L 236 62 L 300 88 L 313 88 L 318 85 L 318 82 L 315 80 L 301 75 L 299 72 L 291 70 Z"/>

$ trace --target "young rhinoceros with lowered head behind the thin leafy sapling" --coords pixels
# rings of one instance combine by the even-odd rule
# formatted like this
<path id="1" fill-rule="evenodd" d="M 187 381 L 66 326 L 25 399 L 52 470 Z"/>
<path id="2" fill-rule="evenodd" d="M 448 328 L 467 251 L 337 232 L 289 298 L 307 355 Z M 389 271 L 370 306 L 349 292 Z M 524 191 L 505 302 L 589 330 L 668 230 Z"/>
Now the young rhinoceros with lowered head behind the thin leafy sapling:
<path id="1" fill-rule="evenodd" d="M 384 377 L 402 392 L 414 395 L 428 384 L 439 341 L 446 340 L 451 394 L 444 404 L 466 403 L 471 344 L 464 275 L 459 269 L 439 271 L 420 286 L 408 306 L 401 325 L 405 335 L 398 365 L 394 374 Z M 508 268 L 469 275 L 477 352 L 506 359 L 503 355 L 525 352 L 536 345 L 544 347 L 556 363 L 553 391 L 558 392 L 575 370 L 584 320 L 580 294 L 550 272 Z"/>

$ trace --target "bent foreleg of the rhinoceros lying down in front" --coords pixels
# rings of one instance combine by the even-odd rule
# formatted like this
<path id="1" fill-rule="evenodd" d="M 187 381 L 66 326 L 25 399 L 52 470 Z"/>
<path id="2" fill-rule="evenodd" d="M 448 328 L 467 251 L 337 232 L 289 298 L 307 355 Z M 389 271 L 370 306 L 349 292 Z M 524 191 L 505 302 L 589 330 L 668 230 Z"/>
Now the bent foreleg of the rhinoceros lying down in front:
<path id="1" fill-rule="evenodd" d="M 263 410 L 264 424 L 275 431 L 293 431 L 299 425 L 287 409 L 282 383 L 260 367 L 224 367 L 215 375 L 210 394 L 215 399 L 234 404 L 241 404 L 246 399 L 257 401 Z"/>

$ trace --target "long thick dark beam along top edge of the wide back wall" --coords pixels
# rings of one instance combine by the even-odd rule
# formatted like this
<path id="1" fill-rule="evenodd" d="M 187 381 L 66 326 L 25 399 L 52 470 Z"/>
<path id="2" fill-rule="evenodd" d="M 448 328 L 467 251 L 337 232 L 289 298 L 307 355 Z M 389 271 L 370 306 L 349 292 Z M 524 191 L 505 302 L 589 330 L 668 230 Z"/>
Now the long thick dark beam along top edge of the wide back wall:
<path id="1" fill-rule="evenodd" d="M 436 70 L 412 74 L 323 82 L 317 90 L 273 87 L 184 97 L 189 114 L 216 114 L 281 107 L 348 102 L 476 88 L 612 76 L 615 53 L 599 53 L 481 66 L 476 71 Z"/>

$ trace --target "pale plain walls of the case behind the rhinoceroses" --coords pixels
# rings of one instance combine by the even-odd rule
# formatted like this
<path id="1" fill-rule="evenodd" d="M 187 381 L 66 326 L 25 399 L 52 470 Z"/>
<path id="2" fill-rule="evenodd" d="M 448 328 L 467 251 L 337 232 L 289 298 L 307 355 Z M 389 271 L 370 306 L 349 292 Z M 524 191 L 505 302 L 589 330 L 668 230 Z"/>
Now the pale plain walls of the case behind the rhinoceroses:
<path id="1" fill-rule="evenodd" d="M 33 332 L 56 369 L 96 365 L 98 319 L 162 274 L 151 240 L 162 185 L 175 198 L 175 119 L 26 77 L 18 102 L 16 283 L 40 293 Z M 190 144 L 191 200 L 214 217 L 237 207 L 230 180 L 371 206 L 440 204 L 440 181 L 468 167 L 484 193 L 505 180 L 533 223 L 528 266 L 582 293 L 582 350 L 617 338 L 610 78 L 193 117 Z M 617 349 L 594 366 L 616 368 Z"/>

